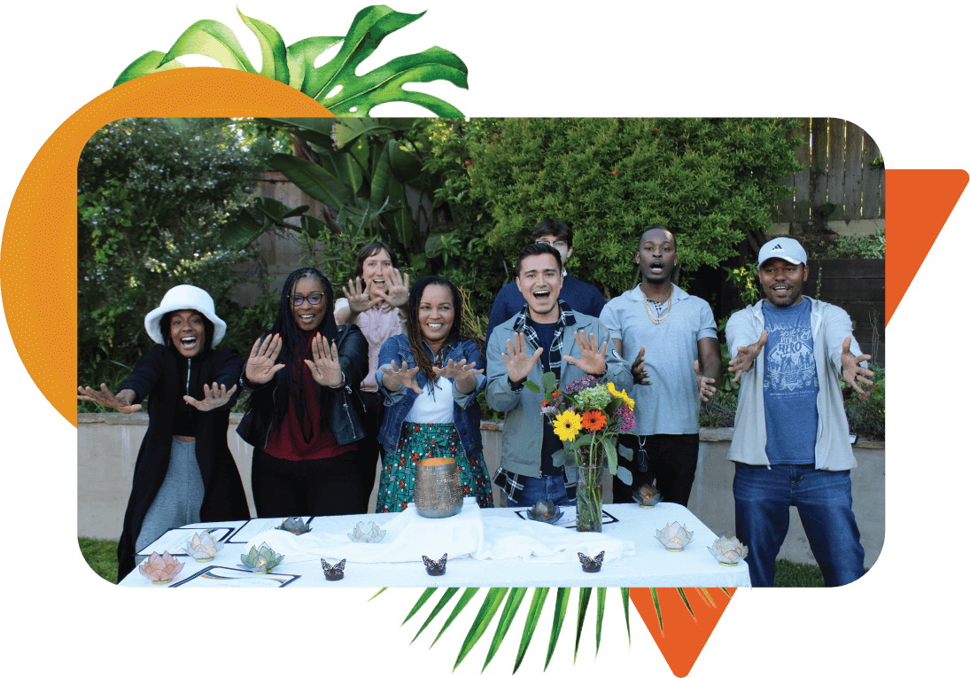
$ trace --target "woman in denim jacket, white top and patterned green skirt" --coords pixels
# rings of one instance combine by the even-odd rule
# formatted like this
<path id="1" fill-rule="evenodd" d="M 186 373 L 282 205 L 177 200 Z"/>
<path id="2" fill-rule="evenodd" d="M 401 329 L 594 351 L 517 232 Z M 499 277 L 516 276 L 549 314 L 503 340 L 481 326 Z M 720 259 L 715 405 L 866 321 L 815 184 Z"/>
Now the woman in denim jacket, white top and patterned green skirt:
<path id="1" fill-rule="evenodd" d="M 485 387 L 474 341 L 461 336 L 462 297 L 443 277 L 418 280 L 407 299 L 408 336 L 380 349 L 377 385 L 385 396 L 377 512 L 403 511 L 414 500 L 414 470 L 422 459 L 452 457 L 462 491 L 492 507 L 492 483 L 482 456 L 475 397 Z M 413 366 L 413 367 L 411 367 Z"/>

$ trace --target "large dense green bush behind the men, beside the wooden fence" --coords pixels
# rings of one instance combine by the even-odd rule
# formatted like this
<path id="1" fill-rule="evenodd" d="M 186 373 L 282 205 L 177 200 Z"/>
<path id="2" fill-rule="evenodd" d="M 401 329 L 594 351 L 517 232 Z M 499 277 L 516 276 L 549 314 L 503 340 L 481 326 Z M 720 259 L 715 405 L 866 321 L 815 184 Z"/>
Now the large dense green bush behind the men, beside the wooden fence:
<path id="1" fill-rule="evenodd" d="M 610 297 L 637 280 L 630 243 L 651 224 L 676 234 L 683 273 L 720 266 L 741 241 L 757 251 L 793 190 L 779 179 L 801 169 L 795 129 L 792 118 L 505 118 L 469 143 L 471 195 L 488 201 L 490 241 L 508 260 L 536 221 L 564 219 L 570 274 Z"/>

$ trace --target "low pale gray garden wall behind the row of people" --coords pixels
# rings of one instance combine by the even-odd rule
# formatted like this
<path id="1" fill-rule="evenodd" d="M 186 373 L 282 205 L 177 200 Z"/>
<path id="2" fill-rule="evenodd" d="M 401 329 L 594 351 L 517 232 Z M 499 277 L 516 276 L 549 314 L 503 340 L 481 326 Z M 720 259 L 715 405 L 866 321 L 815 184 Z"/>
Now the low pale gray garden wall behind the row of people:
<path id="1" fill-rule="evenodd" d="M 236 435 L 242 415 L 230 417 L 229 447 L 242 475 L 249 500 L 250 514 L 255 516 L 249 490 L 252 447 Z M 131 478 L 148 427 L 147 414 L 79 414 L 78 415 L 78 535 L 99 539 L 117 539 L 121 534 Z M 494 472 L 501 459 L 501 422 L 482 424 L 485 464 Z M 688 508 L 707 527 L 719 535 L 734 534 L 734 499 L 731 485 L 733 464 L 727 461 L 733 429 L 701 429 L 697 472 Z M 886 445 L 860 442 L 854 447 L 858 468 L 852 470 L 853 510 L 856 513 L 865 566 L 872 567 L 879 558 L 886 537 Z M 493 485 L 496 505 L 505 498 Z M 371 497 L 371 511 L 376 501 L 377 483 Z M 603 502 L 612 503 L 612 478 L 604 479 Z M 688 526 L 690 529 L 690 526 Z M 788 538 L 780 558 L 795 563 L 815 564 L 808 540 L 795 508 L 791 509 Z"/>

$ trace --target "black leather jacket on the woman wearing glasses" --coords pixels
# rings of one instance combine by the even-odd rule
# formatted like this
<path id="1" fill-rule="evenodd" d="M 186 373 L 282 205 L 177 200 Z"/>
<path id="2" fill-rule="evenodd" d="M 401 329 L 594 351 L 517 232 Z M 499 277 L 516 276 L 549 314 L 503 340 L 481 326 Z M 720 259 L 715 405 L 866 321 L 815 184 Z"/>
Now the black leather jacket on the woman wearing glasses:
<path id="1" fill-rule="evenodd" d="M 269 333 L 263 335 L 263 338 Z M 368 343 L 364 333 L 356 325 L 340 325 L 337 328 L 337 352 L 340 357 L 340 370 L 345 378 L 339 389 L 330 389 L 334 394 L 330 410 L 330 422 L 334 437 L 339 445 L 356 442 L 366 434 L 361 423 L 361 411 L 366 409 L 361 399 L 360 387 L 368 370 Z M 236 428 L 236 433 L 256 449 L 266 449 L 266 441 L 273 428 L 273 404 L 282 382 L 279 372 L 274 380 L 265 384 L 253 384 L 246 380 L 242 370 L 240 384 L 253 389 L 250 398 L 257 399 L 254 406 L 245 413 Z M 268 388 L 275 384 L 273 389 Z M 329 388 L 321 386 L 320 388 Z"/>

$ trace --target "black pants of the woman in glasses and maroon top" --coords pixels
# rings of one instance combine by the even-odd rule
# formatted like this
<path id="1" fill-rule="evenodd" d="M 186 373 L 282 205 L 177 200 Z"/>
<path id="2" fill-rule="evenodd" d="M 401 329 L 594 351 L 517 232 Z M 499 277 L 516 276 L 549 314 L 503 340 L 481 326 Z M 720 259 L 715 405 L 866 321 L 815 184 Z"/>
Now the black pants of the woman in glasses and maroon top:
<path id="1" fill-rule="evenodd" d="M 353 514 L 360 498 L 356 452 L 289 462 L 252 451 L 252 500 L 260 518 Z"/>

